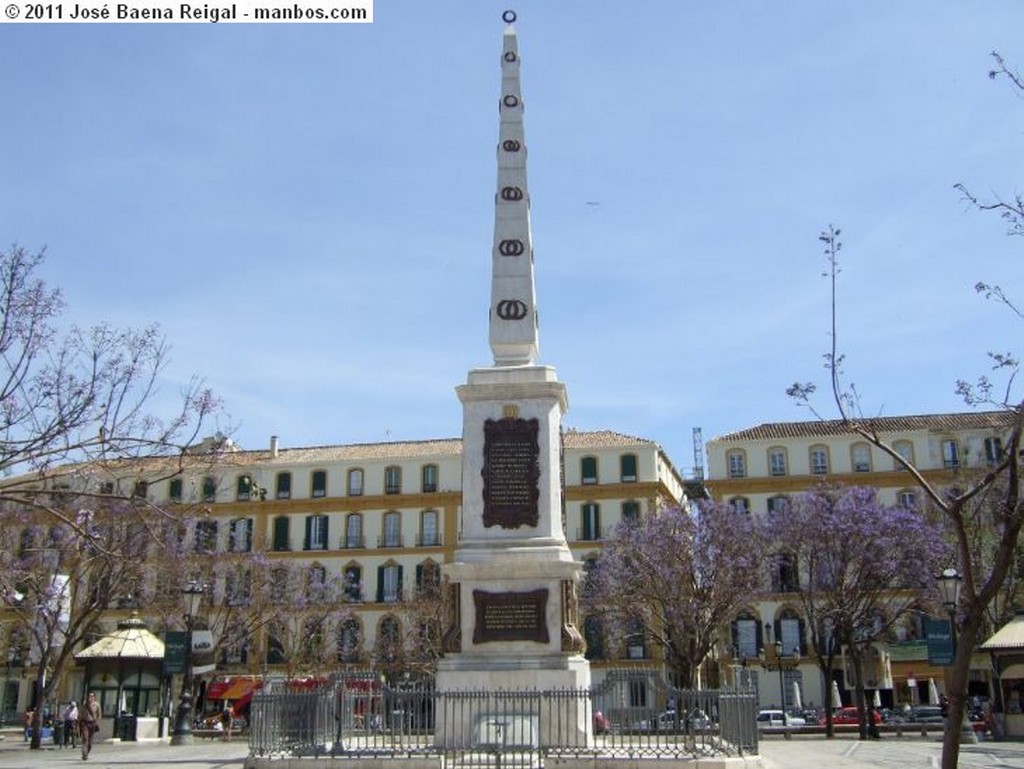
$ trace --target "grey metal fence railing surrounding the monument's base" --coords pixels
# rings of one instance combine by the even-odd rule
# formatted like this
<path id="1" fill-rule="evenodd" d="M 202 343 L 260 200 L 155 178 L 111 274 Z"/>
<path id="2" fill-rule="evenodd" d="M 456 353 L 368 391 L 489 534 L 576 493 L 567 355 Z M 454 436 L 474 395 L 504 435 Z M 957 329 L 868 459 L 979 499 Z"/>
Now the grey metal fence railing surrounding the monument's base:
<path id="1" fill-rule="evenodd" d="M 540 767 L 545 757 L 699 758 L 757 753 L 751 690 L 655 693 L 633 680 L 590 689 L 437 691 L 360 675 L 312 690 L 268 686 L 250 710 L 251 757 L 444 757 Z"/>

